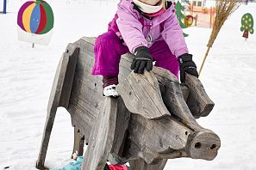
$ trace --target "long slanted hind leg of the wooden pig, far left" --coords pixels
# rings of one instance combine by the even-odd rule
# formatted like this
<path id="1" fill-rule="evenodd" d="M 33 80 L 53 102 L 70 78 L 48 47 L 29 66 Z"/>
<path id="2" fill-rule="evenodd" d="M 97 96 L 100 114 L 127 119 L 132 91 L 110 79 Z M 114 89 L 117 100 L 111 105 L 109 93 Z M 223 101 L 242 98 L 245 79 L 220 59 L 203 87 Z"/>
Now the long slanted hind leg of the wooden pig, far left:
<path id="1" fill-rule="evenodd" d="M 66 83 L 72 84 L 72 78 L 69 77 L 70 72 L 72 72 L 69 69 L 71 67 L 69 64 L 76 64 L 75 62 L 78 56 L 78 48 L 72 45 L 68 46 L 68 48 L 72 50 L 70 50 L 69 52 L 63 53 L 62 57 L 60 58 L 59 65 L 54 76 L 53 87 L 51 90 L 51 94 L 50 94 L 48 106 L 47 106 L 47 120 L 45 123 L 45 129 L 44 129 L 44 133 L 41 141 L 41 149 L 38 156 L 38 160 L 36 162 L 36 168 L 38 169 L 44 168 L 48 143 L 49 143 L 51 132 L 53 129 L 53 122 L 55 119 L 57 108 L 58 106 L 61 106 L 61 96 L 64 94 L 63 88 L 66 89 L 65 88 Z M 75 61 L 75 62 L 72 62 L 72 61 Z M 72 68 L 74 68 L 74 66 L 72 66 Z M 66 82 L 66 79 L 68 79 L 69 82 Z M 66 92 L 66 93 L 69 94 L 69 92 Z"/>

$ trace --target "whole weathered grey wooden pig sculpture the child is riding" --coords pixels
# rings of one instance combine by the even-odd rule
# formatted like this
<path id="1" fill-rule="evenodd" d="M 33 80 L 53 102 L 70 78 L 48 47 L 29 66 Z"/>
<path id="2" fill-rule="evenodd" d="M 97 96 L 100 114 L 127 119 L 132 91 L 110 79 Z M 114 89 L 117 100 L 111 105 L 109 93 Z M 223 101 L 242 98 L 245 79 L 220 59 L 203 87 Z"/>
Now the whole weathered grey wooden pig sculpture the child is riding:
<path id="1" fill-rule="evenodd" d="M 162 170 L 167 159 L 213 160 L 220 138 L 195 118 L 207 116 L 214 103 L 202 83 L 186 75 L 185 84 L 168 70 L 153 67 L 143 75 L 129 68 L 133 56 L 122 56 L 118 98 L 103 97 L 101 77 L 91 76 L 95 38 L 69 44 L 59 61 L 47 107 L 47 121 L 36 167 L 44 163 L 58 106 L 70 113 L 73 152 L 83 155 L 83 170 L 103 170 L 129 162 L 133 170 Z"/>

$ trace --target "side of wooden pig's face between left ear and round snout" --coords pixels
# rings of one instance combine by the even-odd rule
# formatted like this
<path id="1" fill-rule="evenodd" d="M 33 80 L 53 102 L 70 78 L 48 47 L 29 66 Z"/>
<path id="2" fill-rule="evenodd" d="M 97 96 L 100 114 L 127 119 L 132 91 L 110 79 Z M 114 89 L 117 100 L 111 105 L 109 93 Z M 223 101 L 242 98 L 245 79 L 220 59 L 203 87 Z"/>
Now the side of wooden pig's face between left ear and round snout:
<path id="1" fill-rule="evenodd" d="M 185 149 L 191 133 L 190 128 L 171 116 L 155 120 L 131 114 L 122 155 L 125 160 L 143 158 L 147 164 L 155 164 L 162 159 L 161 154 L 172 157 L 173 151 Z"/>

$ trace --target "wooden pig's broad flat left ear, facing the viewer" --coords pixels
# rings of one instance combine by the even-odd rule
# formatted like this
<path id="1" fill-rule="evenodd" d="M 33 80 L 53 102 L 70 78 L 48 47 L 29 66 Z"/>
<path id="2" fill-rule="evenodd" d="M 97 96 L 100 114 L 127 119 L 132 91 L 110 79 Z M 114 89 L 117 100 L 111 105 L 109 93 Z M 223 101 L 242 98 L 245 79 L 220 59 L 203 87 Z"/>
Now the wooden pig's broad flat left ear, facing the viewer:
<path id="1" fill-rule="evenodd" d="M 130 73 L 117 85 L 116 90 L 121 94 L 129 112 L 150 119 L 171 116 L 162 100 L 159 82 L 152 71 L 144 71 L 144 74 Z"/>

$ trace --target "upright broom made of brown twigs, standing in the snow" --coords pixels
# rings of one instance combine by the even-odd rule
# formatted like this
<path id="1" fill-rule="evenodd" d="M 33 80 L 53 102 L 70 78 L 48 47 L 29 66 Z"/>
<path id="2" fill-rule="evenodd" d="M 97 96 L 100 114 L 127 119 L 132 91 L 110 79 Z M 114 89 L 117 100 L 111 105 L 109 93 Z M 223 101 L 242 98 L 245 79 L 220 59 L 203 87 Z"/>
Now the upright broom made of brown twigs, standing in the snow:
<path id="1" fill-rule="evenodd" d="M 212 45 L 215 42 L 215 39 L 220 32 L 224 22 L 228 19 L 228 16 L 231 15 L 234 10 L 238 9 L 240 6 L 241 0 L 216 0 L 215 5 L 215 21 L 213 25 L 212 32 L 210 33 L 209 42 L 208 42 L 208 48 L 205 53 L 205 56 L 203 58 L 203 63 L 201 64 L 199 75 L 203 69 L 203 64 L 208 56 L 209 49 L 212 47 Z"/>

